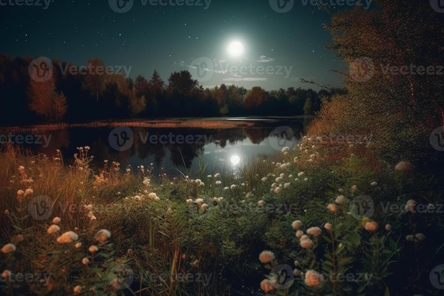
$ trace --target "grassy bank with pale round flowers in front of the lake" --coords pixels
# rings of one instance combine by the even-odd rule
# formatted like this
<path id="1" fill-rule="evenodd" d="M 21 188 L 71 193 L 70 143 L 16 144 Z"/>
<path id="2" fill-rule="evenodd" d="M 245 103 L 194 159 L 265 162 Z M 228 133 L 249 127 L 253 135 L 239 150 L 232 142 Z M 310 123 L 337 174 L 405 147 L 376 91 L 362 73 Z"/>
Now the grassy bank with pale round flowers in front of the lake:
<path id="1" fill-rule="evenodd" d="M 364 144 L 304 138 L 277 159 L 180 178 L 90 160 L 88 147 L 68 167 L 0 154 L 2 294 L 440 292 L 442 177 L 395 170 Z"/>

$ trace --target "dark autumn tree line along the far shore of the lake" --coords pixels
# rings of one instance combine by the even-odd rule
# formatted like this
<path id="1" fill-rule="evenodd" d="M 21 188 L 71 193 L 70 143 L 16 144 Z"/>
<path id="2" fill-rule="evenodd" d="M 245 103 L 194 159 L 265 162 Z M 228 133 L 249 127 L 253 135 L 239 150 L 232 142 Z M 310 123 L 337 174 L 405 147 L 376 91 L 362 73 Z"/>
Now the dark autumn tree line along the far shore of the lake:
<path id="1" fill-rule="evenodd" d="M 84 122 L 102 119 L 294 116 L 313 115 L 323 100 L 343 89 L 313 91 L 289 87 L 266 91 L 221 84 L 203 88 L 189 71 L 178 71 L 165 82 L 157 71 L 151 78 L 125 78 L 123 73 L 98 75 L 63 71 L 70 63 L 52 60 L 52 75 L 43 82 L 28 72 L 32 58 L 0 54 L 1 124 Z M 101 59 L 88 65 L 104 66 Z"/>

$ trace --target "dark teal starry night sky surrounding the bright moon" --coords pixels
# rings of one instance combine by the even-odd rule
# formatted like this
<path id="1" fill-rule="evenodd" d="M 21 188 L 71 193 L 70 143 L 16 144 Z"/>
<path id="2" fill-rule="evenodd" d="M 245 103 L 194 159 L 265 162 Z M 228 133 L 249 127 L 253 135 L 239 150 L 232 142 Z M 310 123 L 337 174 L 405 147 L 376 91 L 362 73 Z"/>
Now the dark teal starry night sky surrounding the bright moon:
<path id="1" fill-rule="evenodd" d="M 15 0 L 0 0 L 10 1 Z M 200 5 L 183 6 L 164 1 L 168 5 L 134 0 L 124 13 L 115 12 L 107 0 L 52 0 L 46 9 L 44 0 L 39 0 L 41 6 L 2 5 L 0 52 L 78 66 L 99 57 L 107 65 L 131 67 L 131 78 L 149 78 L 156 69 L 165 81 L 205 57 L 213 61 L 214 73 L 201 82 L 204 87 L 234 83 L 266 90 L 316 89 L 300 78 L 341 85 L 339 75 L 329 71 L 341 62 L 324 47 L 331 37 L 321 24 L 331 16 L 315 6 L 295 0 L 289 12 L 278 13 L 268 0 L 211 0 L 209 5 L 209 0 L 190 0 Z M 234 41 L 244 47 L 237 57 L 227 50 Z M 248 73 L 226 71 L 242 65 Z M 262 73 L 258 66 L 273 70 Z"/>

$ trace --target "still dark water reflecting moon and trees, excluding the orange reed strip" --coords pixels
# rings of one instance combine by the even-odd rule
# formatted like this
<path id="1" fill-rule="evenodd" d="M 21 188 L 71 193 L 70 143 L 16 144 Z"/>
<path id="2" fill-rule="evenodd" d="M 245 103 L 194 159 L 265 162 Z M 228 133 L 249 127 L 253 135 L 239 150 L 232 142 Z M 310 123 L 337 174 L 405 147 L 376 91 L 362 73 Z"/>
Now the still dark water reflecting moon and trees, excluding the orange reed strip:
<path id="1" fill-rule="evenodd" d="M 233 120 L 240 118 L 230 118 Z M 172 175 L 195 173 L 199 170 L 200 158 L 208 164 L 206 172 L 222 172 L 233 165 L 255 155 L 277 153 L 284 146 L 299 142 L 309 119 L 244 119 L 242 127 L 231 128 L 91 128 L 73 127 L 63 130 L 36 132 L 48 139 L 48 146 L 42 138 L 41 144 L 24 144 L 29 149 L 56 156 L 56 149 L 63 155 L 64 162 L 71 164 L 76 147 L 90 146 L 88 155 L 94 155 L 92 164 L 102 166 L 104 160 L 118 161 L 124 169 L 154 164 L 155 173 Z M 246 127 L 247 126 L 247 127 Z M 129 129 L 129 130 L 128 130 Z M 124 132 L 124 133 L 122 133 Z M 132 136 L 131 136 L 132 133 Z M 125 141 L 123 145 L 122 138 Z M 119 141 L 119 145 L 116 145 Z M 176 170 L 178 169 L 178 170 Z"/>

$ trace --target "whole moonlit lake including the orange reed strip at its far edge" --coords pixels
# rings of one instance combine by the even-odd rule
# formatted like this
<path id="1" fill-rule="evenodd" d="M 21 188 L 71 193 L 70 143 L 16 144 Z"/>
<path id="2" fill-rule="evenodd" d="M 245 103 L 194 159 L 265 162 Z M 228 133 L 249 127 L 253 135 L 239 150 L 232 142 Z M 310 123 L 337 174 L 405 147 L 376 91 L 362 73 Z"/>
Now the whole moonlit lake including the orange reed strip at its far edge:
<path id="1" fill-rule="evenodd" d="M 13 142 L 72 164 L 77 147 L 89 146 L 92 164 L 117 161 L 122 169 L 152 163 L 155 174 L 193 174 L 201 158 L 206 172 L 223 172 L 257 155 L 280 153 L 303 136 L 310 118 L 205 118 L 49 124 L 3 128 L 1 142 Z M 20 137 L 21 136 L 21 137 Z M 12 141 L 11 141 L 12 140 Z M 20 141 L 21 140 L 21 141 Z"/>

